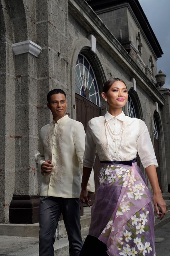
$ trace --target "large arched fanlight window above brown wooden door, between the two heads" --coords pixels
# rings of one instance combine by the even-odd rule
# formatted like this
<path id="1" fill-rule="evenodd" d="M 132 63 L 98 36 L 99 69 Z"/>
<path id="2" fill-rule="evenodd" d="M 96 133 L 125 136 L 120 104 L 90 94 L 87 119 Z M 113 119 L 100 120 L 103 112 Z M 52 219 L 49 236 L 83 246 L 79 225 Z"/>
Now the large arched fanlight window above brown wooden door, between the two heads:
<path id="1" fill-rule="evenodd" d="M 75 70 L 75 93 L 100 107 L 100 96 L 93 69 L 84 55 L 79 54 Z"/>

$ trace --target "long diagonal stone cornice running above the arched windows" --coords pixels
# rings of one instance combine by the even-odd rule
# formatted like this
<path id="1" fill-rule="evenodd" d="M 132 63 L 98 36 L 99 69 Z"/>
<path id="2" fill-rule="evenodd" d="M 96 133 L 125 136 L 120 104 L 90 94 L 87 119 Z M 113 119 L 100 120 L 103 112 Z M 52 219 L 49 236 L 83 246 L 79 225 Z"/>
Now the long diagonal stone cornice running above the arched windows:
<path id="1" fill-rule="evenodd" d="M 154 98 L 159 104 L 164 105 L 165 98 L 137 66 L 121 43 L 113 36 L 86 1 L 69 0 L 68 3 L 69 12 L 86 28 L 89 34 L 93 34 L 96 37 L 97 42 L 112 55 L 131 77 L 136 79 L 137 83 L 148 95 Z"/>

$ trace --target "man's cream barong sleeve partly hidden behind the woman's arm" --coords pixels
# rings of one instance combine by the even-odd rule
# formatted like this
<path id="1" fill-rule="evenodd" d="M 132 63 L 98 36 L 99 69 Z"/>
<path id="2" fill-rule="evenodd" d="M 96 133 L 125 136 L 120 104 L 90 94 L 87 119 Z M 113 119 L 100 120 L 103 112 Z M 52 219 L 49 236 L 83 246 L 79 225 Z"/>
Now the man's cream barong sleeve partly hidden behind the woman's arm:
<path id="1" fill-rule="evenodd" d="M 78 123 L 78 125 L 75 127 L 75 133 L 74 133 L 74 144 L 76 149 L 77 158 L 79 161 L 79 167 L 81 170 L 83 170 L 83 155 L 84 155 L 84 149 L 85 149 L 85 131 L 84 126 L 82 123 Z M 94 171 L 91 171 L 90 178 L 88 181 L 87 189 L 90 192 L 95 192 L 94 188 Z"/>

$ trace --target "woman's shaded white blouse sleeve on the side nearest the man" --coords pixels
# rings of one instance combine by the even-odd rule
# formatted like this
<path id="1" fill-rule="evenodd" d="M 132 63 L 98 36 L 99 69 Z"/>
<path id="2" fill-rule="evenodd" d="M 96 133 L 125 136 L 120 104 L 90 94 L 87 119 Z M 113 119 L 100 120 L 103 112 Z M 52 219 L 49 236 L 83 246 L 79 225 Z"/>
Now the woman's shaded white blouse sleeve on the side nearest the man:
<path id="1" fill-rule="evenodd" d="M 92 119 L 88 122 L 86 129 L 86 145 L 83 156 L 83 166 L 92 168 L 95 162 L 96 145 L 92 134 Z"/>

